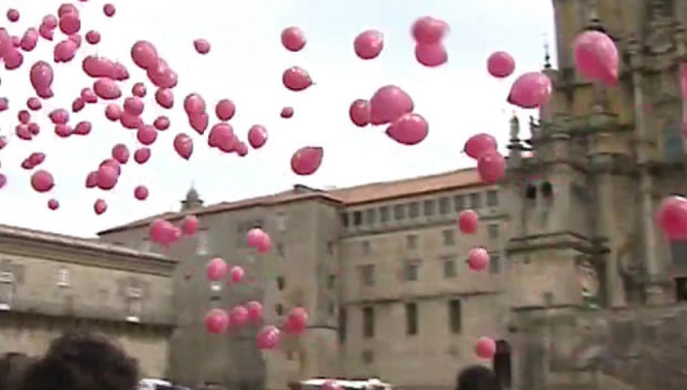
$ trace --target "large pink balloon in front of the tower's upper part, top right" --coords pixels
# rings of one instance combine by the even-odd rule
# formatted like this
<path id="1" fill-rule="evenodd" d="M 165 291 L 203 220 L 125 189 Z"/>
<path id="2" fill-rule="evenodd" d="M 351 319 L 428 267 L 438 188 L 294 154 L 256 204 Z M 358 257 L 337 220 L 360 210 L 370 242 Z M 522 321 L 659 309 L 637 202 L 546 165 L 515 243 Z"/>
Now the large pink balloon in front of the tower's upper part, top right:
<path id="1" fill-rule="evenodd" d="M 585 31 L 575 37 L 575 69 L 590 80 L 618 84 L 618 47 L 606 34 Z"/>

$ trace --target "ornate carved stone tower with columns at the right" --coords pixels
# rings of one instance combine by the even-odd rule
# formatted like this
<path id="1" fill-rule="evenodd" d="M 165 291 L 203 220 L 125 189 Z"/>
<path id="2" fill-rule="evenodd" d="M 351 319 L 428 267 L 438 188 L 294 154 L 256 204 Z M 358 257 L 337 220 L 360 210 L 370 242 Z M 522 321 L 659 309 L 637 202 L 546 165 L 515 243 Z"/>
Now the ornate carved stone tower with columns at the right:
<path id="1" fill-rule="evenodd" d="M 512 202 L 510 329 L 523 389 L 570 382 L 582 312 L 673 301 L 671 248 L 653 213 L 663 196 L 687 190 L 679 91 L 687 2 L 553 3 L 559 69 L 548 58 L 543 69 L 552 99 L 530 120 L 530 140 L 511 123 L 504 185 Z M 617 87 L 574 71 L 572 43 L 585 29 L 616 41 Z M 533 157 L 523 156 L 528 150 Z"/>

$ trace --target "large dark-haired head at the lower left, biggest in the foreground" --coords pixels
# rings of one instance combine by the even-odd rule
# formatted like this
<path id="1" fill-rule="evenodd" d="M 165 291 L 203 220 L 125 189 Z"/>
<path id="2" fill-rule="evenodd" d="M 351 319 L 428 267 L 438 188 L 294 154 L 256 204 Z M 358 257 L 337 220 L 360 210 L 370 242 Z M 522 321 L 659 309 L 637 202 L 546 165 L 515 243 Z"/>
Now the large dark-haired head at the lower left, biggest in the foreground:
<path id="1" fill-rule="evenodd" d="M 16 390 L 133 390 L 138 363 L 102 334 L 74 332 L 52 341 Z"/>

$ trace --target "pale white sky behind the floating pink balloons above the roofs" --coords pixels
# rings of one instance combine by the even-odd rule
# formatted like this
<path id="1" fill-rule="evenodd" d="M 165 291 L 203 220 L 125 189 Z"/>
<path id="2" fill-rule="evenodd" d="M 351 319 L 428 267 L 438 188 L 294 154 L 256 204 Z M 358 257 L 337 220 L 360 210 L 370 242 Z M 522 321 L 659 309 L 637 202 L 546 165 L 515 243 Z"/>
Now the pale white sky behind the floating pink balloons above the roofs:
<path id="1" fill-rule="evenodd" d="M 3 6 L 21 12 L 19 22 L 5 22 L 5 28 L 21 36 L 27 28 L 38 27 L 45 14 L 56 14 L 60 3 L 5 0 Z M 205 202 L 215 203 L 275 193 L 296 183 L 343 187 L 469 166 L 471 161 L 460 153 L 465 140 L 473 133 L 488 132 L 506 143 L 513 111 L 505 102 L 510 83 L 518 74 L 541 69 L 543 43 L 554 45 L 550 1 L 122 0 L 115 2 L 117 13 L 111 19 L 102 14 L 104 1 L 75 3 L 82 16 L 82 34 L 98 30 L 102 41 L 95 47 L 84 41 L 74 61 L 52 64 L 55 97 L 33 113 L 42 132 L 32 141 L 12 135 L 16 112 L 34 96 L 28 72 L 39 59 L 52 62 L 53 45 L 65 37 L 57 30 L 53 43 L 41 39 L 34 52 L 24 54 L 20 69 L 0 70 L 0 96 L 10 100 L 10 109 L 0 113 L 0 133 L 10 135 L 10 143 L 0 151 L 0 171 L 8 177 L 8 185 L 0 190 L 2 224 L 93 237 L 105 228 L 177 210 L 192 182 Z M 437 69 L 425 68 L 414 59 L 409 28 L 425 15 L 451 26 L 446 42 L 449 63 Z M 290 25 L 306 33 L 308 43 L 302 52 L 287 52 L 280 44 L 280 32 Z M 368 29 L 383 32 L 385 49 L 376 60 L 362 61 L 354 55 L 352 41 Z M 192 42 L 199 38 L 210 41 L 210 54 L 196 54 Z M 131 61 L 131 45 L 141 39 L 154 43 L 179 74 L 172 110 L 157 107 L 155 88 Z M 486 58 L 497 50 L 510 52 L 517 61 L 515 75 L 506 80 L 486 73 Z M 146 122 L 161 114 L 172 122 L 168 131 L 159 134 L 150 161 L 122 166 L 120 181 L 111 191 L 85 188 L 85 177 L 110 157 L 114 144 L 124 142 L 133 153 L 138 146 L 135 131 L 106 120 L 105 102 L 71 114 L 72 125 L 80 120 L 93 123 L 87 137 L 58 138 L 47 118 L 53 109 L 70 109 L 80 90 L 92 85 L 93 80 L 81 71 L 81 60 L 89 54 L 128 67 L 131 79 L 122 83 L 123 98 L 131 96 L 134 83 L 146 82 L 142 116 Z M 308 70 L 317 85 L 302 92 L 286 90 L 282 72 L 295 65 Z M 359 129 L 348 119 L 352 100 L 370 98 L 377 88 L 389 84 L 405 89 L 414 98 L 416 112 L 427 118 L 429 136 L 421 144 L 404 147 L 387 138 L 383 127 Z M 217 100 L 232 99 L 237 113 L 231 123 L 237 135 L 245 140 L 252 124 L 262 124 L 269 131 L 267 144 L 245 158 L 210 150 L 207 132 L 203 137 L 195 133 L 183 112 L 183 98 L 191 92 L 205 98 L 210 126 L 217 122 Z M 285 105 L 295 109 L 290 120 L 279 116 Z M 519 111 L 523 122 L 533 114 Z M 195 142 L 188 162 L 172 148 L 179 132 L 188 133 Z M 293 151 L 308 145 L 324 147 L 324 162 L 315 175 L 297 177 L 290 171 L 289 159 Z M 41 168 L 55 177 L 51 193 L 32 191 L 30 172 L 21 169 L 22 160 L 34 151 L 47 154 Z M 139 184 L 150 190 L 145 202 L 133 197 Z M 48 210 L 51 197 L 59 200 L 59 210 Z M 99 197 L 106 199 L 109 209 L 97 216 L 92 205 Z"/>

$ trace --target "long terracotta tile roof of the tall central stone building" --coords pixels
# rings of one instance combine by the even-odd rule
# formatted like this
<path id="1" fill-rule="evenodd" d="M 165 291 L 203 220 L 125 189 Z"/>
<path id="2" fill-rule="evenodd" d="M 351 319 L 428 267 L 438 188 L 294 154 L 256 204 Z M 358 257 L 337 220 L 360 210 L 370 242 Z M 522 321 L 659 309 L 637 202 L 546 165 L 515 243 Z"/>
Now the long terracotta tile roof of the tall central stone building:
<path id="1" fill-rule="evenodd" d="M 330 191 L 297 185 L 289 191 L 283 191 L 281 193 L 272 195 L 242 199 L 237 202 L 221 202 L 218 204 L 212 204 L 210 206 L 186 210 L 178 213 L 168 212 L 159 215 L 153 215 L 151 217 L 133 221 L 129 224 L 103 230 L 102 232 L 98 232 L 98 235 L 106 235 L 113 232 L 121 232 L 132 228 L 139 228 L 150 224 L 150 222 L 158 218 L 175 220 L 181 219 L 185 215 L 200 216 L 221 213 L 230 210 L 238 210 L 241 208 L 275 206 L 277 204 L 284 204 L 287 202 L 295 202 L 305 199 L 324 199 L 330 202 L 354 205 L 367 202 L 379 202 L 385 199 L 418 196 L 425 193 L 448 191 L 451 189 L 466 188 L 471 186 L 484 186 L 484 183 L 482 183 L 480 178 L 477 176 L 477 171 L 475 171 L 475 169 L 460 169 L 458 171 L 440 173 L 438 175 L 414 177 L 412 179 L 396 180 L 392 182 L 363 184 L 361 186 L 338 188 Z"/>

